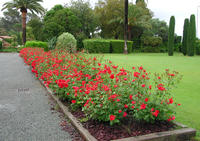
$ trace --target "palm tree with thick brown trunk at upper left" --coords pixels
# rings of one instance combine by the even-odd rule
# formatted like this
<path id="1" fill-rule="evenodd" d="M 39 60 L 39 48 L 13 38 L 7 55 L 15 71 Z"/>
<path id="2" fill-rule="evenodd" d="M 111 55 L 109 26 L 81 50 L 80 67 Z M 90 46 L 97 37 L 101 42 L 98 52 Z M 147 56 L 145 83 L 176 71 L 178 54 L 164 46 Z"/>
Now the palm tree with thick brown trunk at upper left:
<path id="1" fill-rule="evenodd" d="M 27 11 L 30 10 L 32 13 L 42 14 L 44 8 L 39 2 L 43 0 L 12 0 L 11 2 L 6 2 L 3 5 L 2 11 L 8 8 L 20 10 L 22 13 L 22 43 L 26 43 L 26 17 Z"/>

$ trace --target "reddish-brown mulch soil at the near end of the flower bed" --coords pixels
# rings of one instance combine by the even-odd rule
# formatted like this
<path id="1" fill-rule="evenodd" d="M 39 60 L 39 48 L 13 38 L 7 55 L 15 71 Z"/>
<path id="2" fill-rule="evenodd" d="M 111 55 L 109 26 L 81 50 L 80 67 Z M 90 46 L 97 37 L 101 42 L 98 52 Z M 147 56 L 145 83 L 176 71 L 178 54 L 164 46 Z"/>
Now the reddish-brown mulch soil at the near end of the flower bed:
<path id="1" fill-rule="evenodd" d="M 86 116 L 81 110 L 72 114 L 81 121 Z M 169 131 L 176 128 L 176 125 L 170 122 L 156 122 L 149 124 L 145 122 L 130 122 L 126 119 L 122 125 L 110 126 L 109 123 L 88 120 L 82 122 L 83 126 L 99 141 L 109 141 L 127 137 L 145 135 L 155 132 Z"/>

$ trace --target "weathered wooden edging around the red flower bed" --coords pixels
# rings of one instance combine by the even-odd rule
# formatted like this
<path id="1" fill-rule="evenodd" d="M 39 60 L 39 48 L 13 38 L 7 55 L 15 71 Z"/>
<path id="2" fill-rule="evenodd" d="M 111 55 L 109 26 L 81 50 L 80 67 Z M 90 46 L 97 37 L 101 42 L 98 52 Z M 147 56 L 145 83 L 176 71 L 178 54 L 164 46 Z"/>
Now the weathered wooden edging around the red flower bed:
<path id="1" fill-rule="evenodd" d="M 22 59 L 23 60 L 23 59 Z M 30 70 L 31 70 L 31 66 Z M 49 95 L 57 102 L 63 113 L 67 116 L 67 118 L 71 121 L 72 125 L 79 131 L 81 136 L 86 141 L 97 141 L 97 139 L 92 136 L 89 131 L 82 126 L 82 124 L 74 117 L 69 111 L 68 107 L 65 106 L 52 92 L 52 90 L 45 86 L 42 80 L 39 80 L 41 85 L 46 88 Z M 141 135 L 136 137 L 128 137 L 123 139 L 117 139 L 112 141 L 188 141 L 192 137 L 196 136 L 196 130 L 193 128 L 188 128 L 186 125 L 183 125 L 178 122 L 174 122 L 176 125 L 181 127 L 181 129 L 176 129 L 172 131 L 164 131 L 151 133 L 147 135 Z"/>

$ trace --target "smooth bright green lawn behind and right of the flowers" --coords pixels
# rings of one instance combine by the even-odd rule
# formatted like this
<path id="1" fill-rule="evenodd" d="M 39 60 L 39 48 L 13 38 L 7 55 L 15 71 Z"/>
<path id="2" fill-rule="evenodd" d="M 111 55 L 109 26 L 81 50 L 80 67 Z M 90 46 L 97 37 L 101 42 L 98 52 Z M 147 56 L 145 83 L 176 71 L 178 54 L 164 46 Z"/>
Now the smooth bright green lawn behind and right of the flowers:
<path id="1" fill-rule="evenodd" d="M 105 59 L 127 69 L 142 65 L 151 72 L 162 72 L 167 68 L 179 71 L 183 75 L 183 80 L 174 90 L 174 97 L 182 106 L 178 108 L 176 120 L 197 129 L 197 136 L 200 137 L 200 56 L 168 56 L 164 53 L 104 55 Z"/>

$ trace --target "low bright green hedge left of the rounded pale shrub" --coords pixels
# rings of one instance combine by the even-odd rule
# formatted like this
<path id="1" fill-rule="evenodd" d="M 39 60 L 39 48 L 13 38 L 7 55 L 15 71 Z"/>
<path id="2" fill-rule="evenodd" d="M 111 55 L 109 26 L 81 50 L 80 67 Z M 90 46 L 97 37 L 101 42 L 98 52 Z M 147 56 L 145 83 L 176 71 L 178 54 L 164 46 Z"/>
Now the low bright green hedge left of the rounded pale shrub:
<path id="1" fill-rule="evenodd" d="M 25 47 L 44 48 L 45 51 L 48 51 L 47 42 L 42 42 L 42 41 L 27 41 Z"/>

